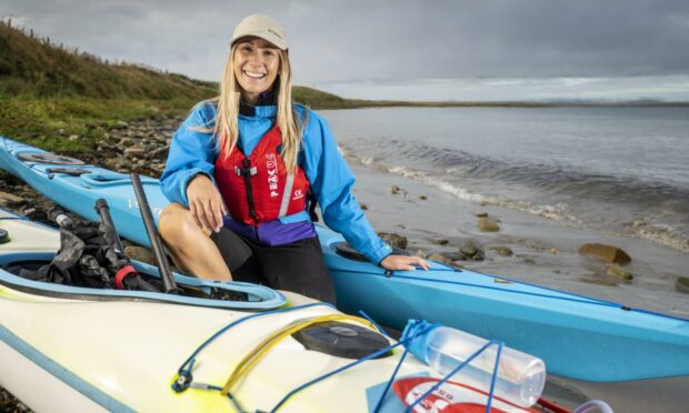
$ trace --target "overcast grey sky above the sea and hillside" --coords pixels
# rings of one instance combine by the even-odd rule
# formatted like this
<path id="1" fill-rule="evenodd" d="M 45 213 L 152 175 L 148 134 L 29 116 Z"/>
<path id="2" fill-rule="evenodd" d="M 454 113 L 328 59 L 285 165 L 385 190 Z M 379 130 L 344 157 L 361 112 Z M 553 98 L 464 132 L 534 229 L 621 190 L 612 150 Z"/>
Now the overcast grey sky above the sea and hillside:
<path id="1" fill-rule="evenodd" d="M 687 0 L 2 0 L 107 59 L 218 80 L 234 26 L 280 20 L 298 84 L 422 100 L 689 101 Z"/>

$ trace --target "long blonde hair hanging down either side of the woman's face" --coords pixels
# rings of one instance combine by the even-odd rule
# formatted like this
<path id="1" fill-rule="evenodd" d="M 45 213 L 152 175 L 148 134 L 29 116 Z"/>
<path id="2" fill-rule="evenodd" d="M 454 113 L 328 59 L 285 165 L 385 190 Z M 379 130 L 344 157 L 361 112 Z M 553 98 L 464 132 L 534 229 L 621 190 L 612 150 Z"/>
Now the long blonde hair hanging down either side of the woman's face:
<path id="1" fill-rule="evenodd" d="M 241 101 L 241 87 L 237 82 L 234 73 L 234 53 L 240 42 L 232 44 L 228 60 L 224 63 L 222 79 L 220 80 L 220 95 L 212 99 L 217 107 L 214 125 L 212 128 L 198 128 L 201 132 L 213 132 L 218 139 L 218 147 L 221 153 L 230 154 L 237 147 L 239 138 L 239 104 Z M 280 157 L 287 167 L 289 174 L 293 173 L 297 167 L 297 158 L 301 147 L 301 137 L 304 124 L 308 121 L 308 108 L 304 108 L 303 119 L 292 105 L 292 72 L 289 63 L 289 54 L 284 50 L 276 49 L 279 57 L 277 90 L 273 83 L 273 91 L 278 105 L 276 122 L 282 133 L 282 151 Z"/>

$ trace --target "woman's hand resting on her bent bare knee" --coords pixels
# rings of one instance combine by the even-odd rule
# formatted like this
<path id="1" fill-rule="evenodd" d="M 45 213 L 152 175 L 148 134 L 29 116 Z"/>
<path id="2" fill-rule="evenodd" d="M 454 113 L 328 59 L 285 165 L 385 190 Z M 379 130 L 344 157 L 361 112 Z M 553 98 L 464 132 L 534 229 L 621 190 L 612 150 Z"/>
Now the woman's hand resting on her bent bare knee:
<path id="1" fill-rule="evenodd" d="M 193 177 L 187 185 L 187 199 L 196 224 L 209 232 L 219 232 L 227 210 L 213 182 L 202 173 Z"/>

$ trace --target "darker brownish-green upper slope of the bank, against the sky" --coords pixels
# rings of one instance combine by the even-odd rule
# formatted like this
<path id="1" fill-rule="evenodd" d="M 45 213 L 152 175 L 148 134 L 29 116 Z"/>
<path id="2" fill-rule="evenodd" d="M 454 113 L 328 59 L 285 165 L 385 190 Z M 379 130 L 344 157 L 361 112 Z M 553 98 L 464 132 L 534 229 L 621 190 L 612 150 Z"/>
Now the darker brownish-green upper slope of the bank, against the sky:
<path id="1" fill-rule="evenodd" d="M 211 82 L 140 66 L 107 62 L 69 50 L 32 30 L 0 22 L 0 93 L 36 97 L 204 99 L 216 94 Z"/>

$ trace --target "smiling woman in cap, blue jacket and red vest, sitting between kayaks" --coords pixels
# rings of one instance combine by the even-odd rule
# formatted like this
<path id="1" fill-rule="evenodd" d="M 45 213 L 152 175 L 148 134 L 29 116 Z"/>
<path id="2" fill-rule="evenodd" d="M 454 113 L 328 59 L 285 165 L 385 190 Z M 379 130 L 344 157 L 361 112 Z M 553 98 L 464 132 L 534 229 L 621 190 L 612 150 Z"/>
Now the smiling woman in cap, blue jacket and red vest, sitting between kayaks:
<path id="1" fill-rule="evenodd" d="M 328 124 L 292 103 L 280 23 L 249 16 L 230 46 L 220 95 L 199 103 L 176 132 L 161 177 L 171 203 L 160 230 L 177 264 L 206 279 L 267 283 L 334 302 L 307 210 L 312 193 L 326 224 L 371 262 L 427 269 L 418 256 L 391 254 L 376 235 Z"/>

